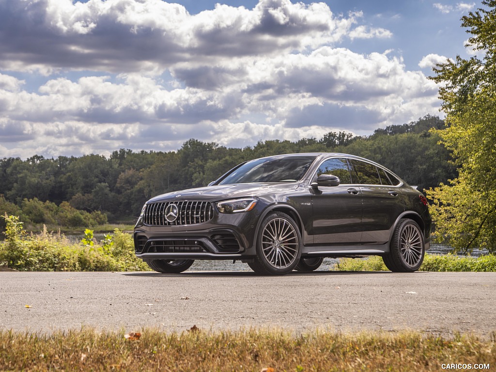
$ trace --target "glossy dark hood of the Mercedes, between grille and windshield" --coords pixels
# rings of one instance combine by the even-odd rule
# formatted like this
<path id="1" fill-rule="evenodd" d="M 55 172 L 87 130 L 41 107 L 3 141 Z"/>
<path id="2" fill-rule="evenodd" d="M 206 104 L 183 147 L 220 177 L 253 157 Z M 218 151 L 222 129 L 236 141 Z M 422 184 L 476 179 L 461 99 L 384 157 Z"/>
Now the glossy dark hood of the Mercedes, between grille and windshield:
<path id="1" fill-rule="evenodd" d="M 187 190 L 168 192 L 166 194 L 152 197 L 147 203 L 170 200 L 208 200 L 218 201 L 238 197 L 262 196 L 275 192 L 293 190 L 299 186 L 296 182 L 291 183 L 256 183 L 256 184 L 232 184 L 217 185 Z"/>

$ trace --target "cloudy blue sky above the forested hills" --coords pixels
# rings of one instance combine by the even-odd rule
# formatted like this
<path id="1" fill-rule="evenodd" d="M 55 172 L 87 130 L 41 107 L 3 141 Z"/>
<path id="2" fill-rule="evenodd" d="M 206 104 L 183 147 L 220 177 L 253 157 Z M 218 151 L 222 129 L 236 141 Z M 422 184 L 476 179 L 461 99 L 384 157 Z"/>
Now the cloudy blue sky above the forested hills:
<path id="1" fill-rule="evenodd" d="M 438 115 L 448 0 L 0 0 L 0 158 L 320 139 Z"/>

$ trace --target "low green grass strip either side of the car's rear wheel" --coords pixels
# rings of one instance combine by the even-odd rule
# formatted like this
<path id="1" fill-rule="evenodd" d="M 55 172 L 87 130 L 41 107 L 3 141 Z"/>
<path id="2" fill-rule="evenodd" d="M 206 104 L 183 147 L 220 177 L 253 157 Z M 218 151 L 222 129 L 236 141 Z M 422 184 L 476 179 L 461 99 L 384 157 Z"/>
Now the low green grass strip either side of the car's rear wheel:
<path id="1" fill-rule="evenodd" d="M 338 271 L 387 271 L 379 256 L 365 259 L 341 258 L 334 267 Z M 420 271 L 496 271 L 496 255 L 481 257 L 457 256 L 455 254 L 426 254 Z"/>

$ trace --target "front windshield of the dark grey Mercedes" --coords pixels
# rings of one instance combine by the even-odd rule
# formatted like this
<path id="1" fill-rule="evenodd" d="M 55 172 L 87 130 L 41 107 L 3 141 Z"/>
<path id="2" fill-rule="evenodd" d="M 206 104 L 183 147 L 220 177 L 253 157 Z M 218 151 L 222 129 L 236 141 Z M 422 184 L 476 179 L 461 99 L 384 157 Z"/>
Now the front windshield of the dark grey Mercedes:
<path id="1" fill-rule="evenodd" d="M 255 159 L 229 174 L 219 185 L 253 182 L 296 182 L 308 171 L 316 156 L 287 156 Z"/>

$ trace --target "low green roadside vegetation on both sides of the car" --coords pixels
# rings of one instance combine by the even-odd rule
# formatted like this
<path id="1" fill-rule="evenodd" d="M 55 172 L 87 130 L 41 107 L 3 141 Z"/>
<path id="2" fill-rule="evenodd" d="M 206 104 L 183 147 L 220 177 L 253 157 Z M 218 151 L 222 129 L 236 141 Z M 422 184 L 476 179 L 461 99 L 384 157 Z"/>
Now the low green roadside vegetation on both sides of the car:
<path id="1" fill-rule="evenodd" d="M 27 233 L 16 216 L 2 216 L 5 241 L 0 242 L 0 266 L 19 271 L 141 271 L 149 270 L 134 255 L 132 235 L 119 229 L 98 241 L 86 229 L 83 239 L 71 243 L 60 232 Z M 337 271 L 387 271 L 382 258 L 342 258 Z M 496 271 L 496 255 L 481 257 L 426 254 L 421 271 Z"/>

